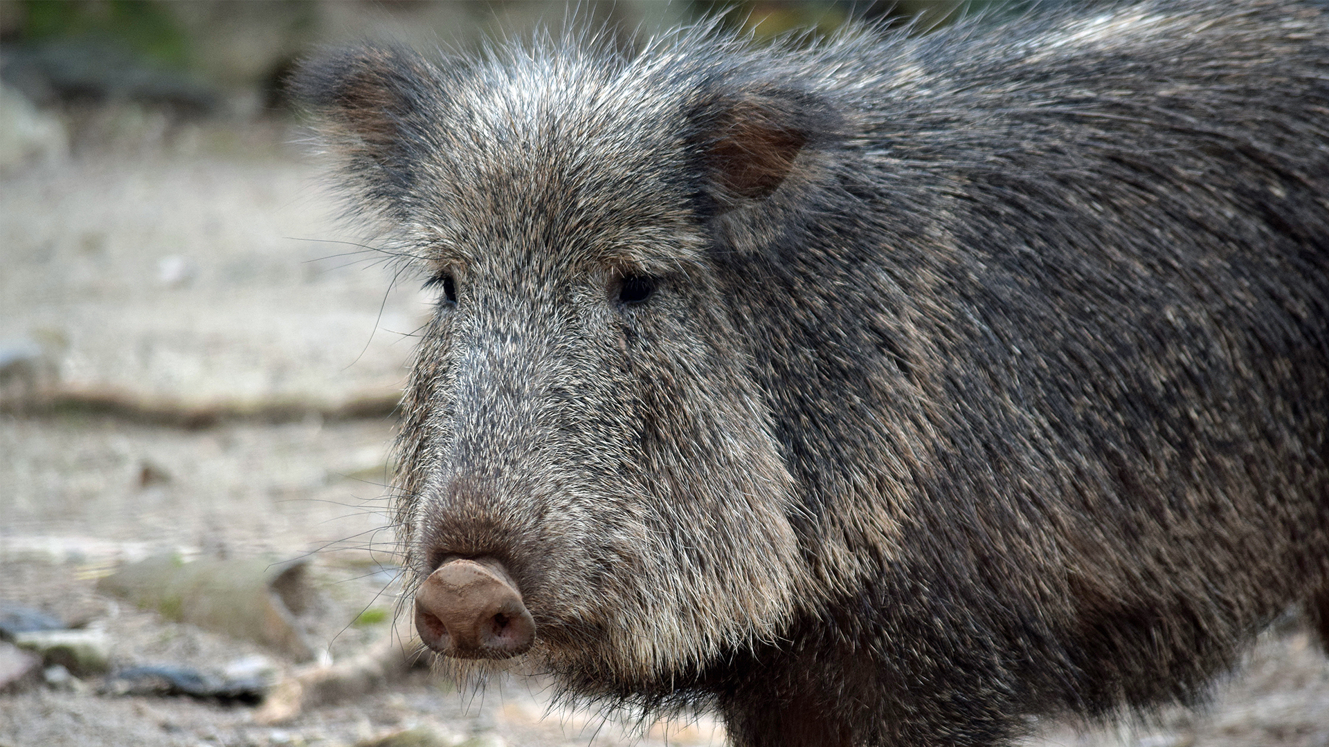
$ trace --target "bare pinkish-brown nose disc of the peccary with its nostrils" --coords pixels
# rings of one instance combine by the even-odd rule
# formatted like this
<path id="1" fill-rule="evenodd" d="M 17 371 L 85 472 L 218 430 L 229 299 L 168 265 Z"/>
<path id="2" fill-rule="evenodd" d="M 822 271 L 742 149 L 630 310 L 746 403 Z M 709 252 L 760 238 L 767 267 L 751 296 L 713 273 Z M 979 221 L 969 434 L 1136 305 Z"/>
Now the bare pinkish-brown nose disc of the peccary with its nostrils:
<path id="1" fill-rule="evenodd" d="M 461 659 L 506 659 L 536 639 L 536 621 L 502 564 L 452 560 L 416 591 L 416 630 L 435 651 Z"/>

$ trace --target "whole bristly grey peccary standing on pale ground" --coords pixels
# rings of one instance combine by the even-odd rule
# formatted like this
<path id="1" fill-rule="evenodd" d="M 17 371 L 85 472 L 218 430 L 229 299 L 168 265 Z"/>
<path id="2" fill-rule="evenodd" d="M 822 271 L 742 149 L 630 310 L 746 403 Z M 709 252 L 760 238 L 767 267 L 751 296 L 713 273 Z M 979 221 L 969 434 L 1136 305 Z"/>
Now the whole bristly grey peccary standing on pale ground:
<path id="1" fill-rule="evenodd" d="M 739 746 L 981 746 L 1329 633 L 1329 20 L 304 66 L 437 290 L 415 619 Z"/>

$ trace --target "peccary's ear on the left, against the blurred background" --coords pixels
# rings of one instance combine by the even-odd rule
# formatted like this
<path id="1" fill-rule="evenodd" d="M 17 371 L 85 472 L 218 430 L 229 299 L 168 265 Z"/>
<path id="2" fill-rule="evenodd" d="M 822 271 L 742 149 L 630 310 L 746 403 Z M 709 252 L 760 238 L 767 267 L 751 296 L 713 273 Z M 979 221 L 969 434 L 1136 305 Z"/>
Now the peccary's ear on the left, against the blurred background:
<path id="1" fill-rule="evenodd" d="M 295 98 L 323 117 L 328 144 L 367 197 L 391 199 L 413 182 L 428 112 L 443 101 L 437 72 L 413 52 L 363 47 L 306 61 L 290 82 Z M 399 194 L 397 194 L 399 195 Z"/>

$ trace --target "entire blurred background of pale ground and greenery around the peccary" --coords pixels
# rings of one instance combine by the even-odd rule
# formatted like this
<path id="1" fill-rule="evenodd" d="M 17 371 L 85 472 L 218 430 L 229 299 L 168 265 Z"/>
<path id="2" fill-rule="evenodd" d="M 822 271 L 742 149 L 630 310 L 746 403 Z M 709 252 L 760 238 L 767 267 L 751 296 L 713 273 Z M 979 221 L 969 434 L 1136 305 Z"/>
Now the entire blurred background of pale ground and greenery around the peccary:
<path id="1" fill-rule="evenodd" d="M 1038 3 L 581 3 L 754 44 Z M 339 221 L 283 92 L 322 45 L 473 49 L 563 3 L 0 0 L 0 747 L 724 744 L 412 667 L 385 497 L 428 311 Z M 1204 712 L 1030 744 L 1329 746 L 1281 621 Z"/>

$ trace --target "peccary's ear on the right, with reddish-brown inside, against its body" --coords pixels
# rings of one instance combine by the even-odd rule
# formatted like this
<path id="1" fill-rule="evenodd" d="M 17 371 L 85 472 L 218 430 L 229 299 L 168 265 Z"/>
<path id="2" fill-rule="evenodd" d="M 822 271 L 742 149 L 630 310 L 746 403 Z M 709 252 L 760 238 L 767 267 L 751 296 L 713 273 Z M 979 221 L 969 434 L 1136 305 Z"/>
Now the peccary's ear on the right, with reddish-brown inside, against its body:
<path id="1" fill-rule="evenodd" d="M 692 125 L 716 213 L 766 199 L 795 175 L 808 152 L 844 132 L 843 118 L 821 97 L 762 86 L 708 97 L 694 110 Z"/>

